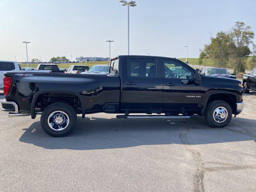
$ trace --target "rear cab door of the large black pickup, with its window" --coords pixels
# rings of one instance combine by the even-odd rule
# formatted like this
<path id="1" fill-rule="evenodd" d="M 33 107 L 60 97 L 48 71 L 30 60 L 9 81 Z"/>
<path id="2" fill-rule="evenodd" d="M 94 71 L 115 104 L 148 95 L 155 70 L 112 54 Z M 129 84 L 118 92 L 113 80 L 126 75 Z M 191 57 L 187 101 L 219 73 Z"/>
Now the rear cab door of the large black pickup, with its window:
<path id="1" fill-rule="evenodd" d="M 161 110 L 162 83 L 158 58 L 137 56 L 124 59 L 121 109 Z"/>

